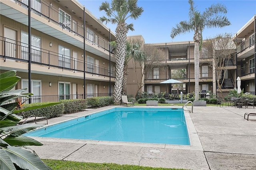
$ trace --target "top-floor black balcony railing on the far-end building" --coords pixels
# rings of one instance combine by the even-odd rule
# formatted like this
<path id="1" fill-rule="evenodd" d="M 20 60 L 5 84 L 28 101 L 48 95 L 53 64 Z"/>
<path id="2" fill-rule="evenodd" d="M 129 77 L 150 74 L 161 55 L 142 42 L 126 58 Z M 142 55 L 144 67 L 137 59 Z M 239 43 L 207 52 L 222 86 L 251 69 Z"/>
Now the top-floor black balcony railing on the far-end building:
<path id="1" fill-rule="evenodd" d="M 201 53 L 199 56 L 200 59 L 208 59 L 212 58 L 212 56 L 207 53 Z M 170 53 L 169 60 L 186 60 L 186 59 L 194 59 L 194 53 Z"/>

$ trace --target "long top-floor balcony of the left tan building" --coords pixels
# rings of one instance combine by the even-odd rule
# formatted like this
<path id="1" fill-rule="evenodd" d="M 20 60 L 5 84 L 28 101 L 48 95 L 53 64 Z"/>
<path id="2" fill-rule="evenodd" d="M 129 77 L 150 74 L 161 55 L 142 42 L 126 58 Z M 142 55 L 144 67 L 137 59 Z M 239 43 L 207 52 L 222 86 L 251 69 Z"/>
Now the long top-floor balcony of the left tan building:
<path id="1" fill-rule="evenodd" d="M 28 0 L 16 0 L 15 4 L 11 0 L 1 1 L 0 13 L 3 16 L 28 26 L 28 2 Z M 75 45 L 81 49 L 84 48 L 84 29 L 86 29 L 86 51 L 104 57 L 105 59 L 109 58 L 109 42 L 104 38 L 96 35 L 87 28 L 84 28 L 82 24 L 73 20 L 69 14 L 66 15 L 60 13 L 59 9 L 54 8 L 51 4 L 45 2 L 44 0 L 34 0 L 31 2 L 31 28 L 64 42 L 71 43 L 72 45 Z M 78 12 L 83 15 L 82 9 L 79 8 L 77 13 Z M 92 20 L 92 22 L 98 21 Z M 109 34 L 109 30 L 106 30 L 106 28 L 100 26 L 99 23 L 98 25 L 99 27 L 97 29 L 101 30 L 102 34 Z M 115 61 L 113 57 L 112 61 Z"/>

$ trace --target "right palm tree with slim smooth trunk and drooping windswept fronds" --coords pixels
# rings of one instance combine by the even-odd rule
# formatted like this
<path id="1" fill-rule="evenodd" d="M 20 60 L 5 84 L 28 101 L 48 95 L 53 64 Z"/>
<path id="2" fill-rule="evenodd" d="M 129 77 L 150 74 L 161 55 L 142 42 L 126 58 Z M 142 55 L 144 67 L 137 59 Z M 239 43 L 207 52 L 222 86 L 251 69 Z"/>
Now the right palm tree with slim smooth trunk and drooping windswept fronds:
<path id="1" fill-rule="evenodd" d="M 222 14 L 227 13 L 226 6 L 222 4 L 212 4 L 203 13 L 200 13 L 193 0 L 188 0 L 190 4 L 189 20 L 182 21 L 172 28 L 171 38 L 176 37 L 178 34 L 194 31 L 194 68 L 195 68 L 195 101 L 199 99 L 199 55 L 202 46 L 202 32 L 204 28 L 222 28 L 229 26 L 230 21 Z"/>

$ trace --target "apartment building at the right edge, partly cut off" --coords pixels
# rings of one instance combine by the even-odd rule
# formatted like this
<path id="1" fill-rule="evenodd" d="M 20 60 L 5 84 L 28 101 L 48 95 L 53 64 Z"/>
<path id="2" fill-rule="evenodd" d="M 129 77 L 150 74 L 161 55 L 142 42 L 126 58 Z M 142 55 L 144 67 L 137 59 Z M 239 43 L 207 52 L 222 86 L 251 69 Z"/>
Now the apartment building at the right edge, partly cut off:
<path id="1" fill-rule="evenodd" d="M 237 45 L 237 75 L 241 79 L 241 89 L 253 95 L 256 91 L 256 16 L 253 16 L 234 36 Z"/>

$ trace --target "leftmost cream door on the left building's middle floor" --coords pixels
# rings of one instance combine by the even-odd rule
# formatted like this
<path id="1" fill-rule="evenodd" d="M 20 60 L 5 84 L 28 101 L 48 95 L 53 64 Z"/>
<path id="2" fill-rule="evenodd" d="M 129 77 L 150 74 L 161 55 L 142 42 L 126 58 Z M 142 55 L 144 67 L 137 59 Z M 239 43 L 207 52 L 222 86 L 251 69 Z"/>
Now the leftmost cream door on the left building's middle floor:
<path id="1" fill-rule="evenodd" d="M 4 37 L 5 39 L 5 55 L 7 57 L 16 58 L 16 31 L 10 28 L 4 27 Z M 15 61 L 12 59 L 6 59 L 8 61 Z"/>

